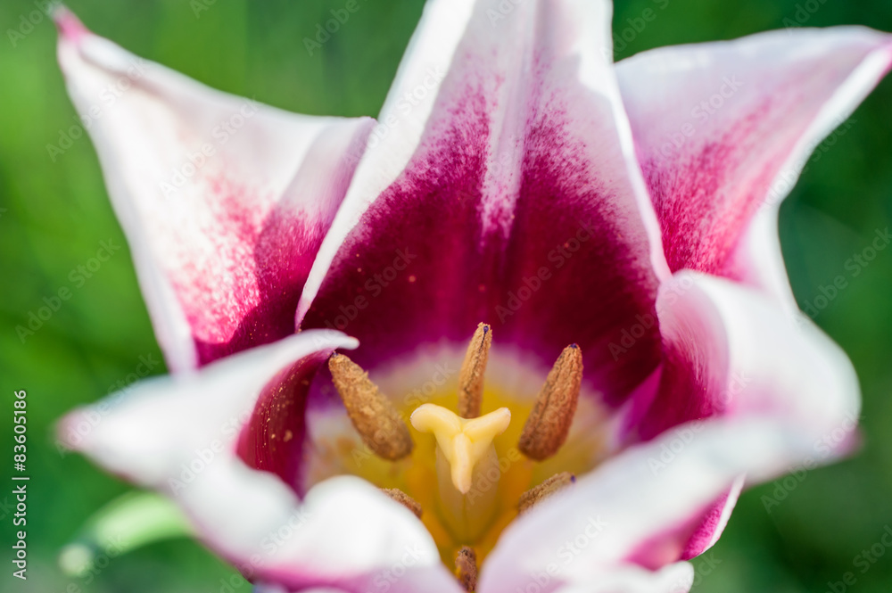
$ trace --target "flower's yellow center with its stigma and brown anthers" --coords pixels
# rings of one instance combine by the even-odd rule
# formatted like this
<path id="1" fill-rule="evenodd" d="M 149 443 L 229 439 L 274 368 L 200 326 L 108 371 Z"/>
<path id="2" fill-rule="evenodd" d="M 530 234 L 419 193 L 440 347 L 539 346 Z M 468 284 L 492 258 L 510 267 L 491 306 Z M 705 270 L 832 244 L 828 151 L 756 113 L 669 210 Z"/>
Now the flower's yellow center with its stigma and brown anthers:
<path id="1" fill-rule="evenodd" d="M 579 398 L 582 352 L 575 344 L 558 357 L 535 399 L 518 399 L 514 390 L 483 381 L 491 340 L 489 326 L 479 325 L 458 389 L 453 383 L 435 391 L 420 406 L 417 399 L 394 405 L 359 366 L 335 354 L 328 366 L 355 432 L 309 421 L 318 426 L 310 439 L 319 456 L 310 463 L 310 482 L 349 473 L 375 483 L 425 523 L 467 590 L 508 523 L 572 484 L 604 449 L 602 432 L 592 430 L 603 426 L 603 416 Z M 512 424 L 512 415 L 525 417 L 524 424 Z M 586 425 L 572 430 L 574 418 Z M 332 434 L 339 436 L 332 441 Z"/>

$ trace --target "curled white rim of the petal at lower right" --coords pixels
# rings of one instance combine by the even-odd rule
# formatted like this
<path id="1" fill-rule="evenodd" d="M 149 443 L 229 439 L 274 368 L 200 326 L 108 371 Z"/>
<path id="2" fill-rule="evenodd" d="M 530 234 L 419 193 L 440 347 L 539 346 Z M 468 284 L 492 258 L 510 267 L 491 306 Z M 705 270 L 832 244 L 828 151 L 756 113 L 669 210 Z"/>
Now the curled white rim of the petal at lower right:
<path id="1" fill-rule="evenodd" d="M 860 414 L 855 371 L 811 320 L 754 288 L 692 272 L 664 285 L 658 309 L 666 339 L 690 350 L 692 372 L 728 399 L 727 415 L 626 449 L 520 517 L 483 564 L 482 591 L 524 590 L 542 573 L 555 587 L 593 587 L 631 563 L 672 564 L 740 475 L 764 482 L 847 452 L 846 440 L 829 453 L 822 441 L 851 431 Z"/>

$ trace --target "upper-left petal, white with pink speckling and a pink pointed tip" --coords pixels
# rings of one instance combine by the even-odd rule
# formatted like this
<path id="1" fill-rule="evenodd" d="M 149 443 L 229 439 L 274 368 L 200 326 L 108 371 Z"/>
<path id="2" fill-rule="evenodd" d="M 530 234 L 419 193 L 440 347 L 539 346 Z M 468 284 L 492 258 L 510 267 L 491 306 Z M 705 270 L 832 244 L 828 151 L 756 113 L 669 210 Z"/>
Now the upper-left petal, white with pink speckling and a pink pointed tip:
<path id="1" fill-rule="evenodd" d="M 194 368 L 195 341 L 227 342 L 261 304 L 262 266 L 282 263 L 263 242 L 282 226 L 306 262 L 276 280 L 300 291 L 374 121 L 227 95 L 95 36 L 65 8 L 54 17 L 155 333 L 171 369 Z"/>

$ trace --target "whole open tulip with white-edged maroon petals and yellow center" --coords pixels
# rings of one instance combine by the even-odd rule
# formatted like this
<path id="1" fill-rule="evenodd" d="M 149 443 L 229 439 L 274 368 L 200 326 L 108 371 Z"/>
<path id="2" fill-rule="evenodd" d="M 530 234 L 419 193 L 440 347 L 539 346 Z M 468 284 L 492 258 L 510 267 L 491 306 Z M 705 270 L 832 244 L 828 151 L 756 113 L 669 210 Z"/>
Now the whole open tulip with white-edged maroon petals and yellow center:
<path id="1" fill-rule="evenodd" d="M 686 591 L 743 487 L 851 449 L 777 217 L 892 37 L 614 64 L 605 0 L 430 0 L 373 120 L 56 21 L 172 371 L 62 438 L 259 589 Z"/>

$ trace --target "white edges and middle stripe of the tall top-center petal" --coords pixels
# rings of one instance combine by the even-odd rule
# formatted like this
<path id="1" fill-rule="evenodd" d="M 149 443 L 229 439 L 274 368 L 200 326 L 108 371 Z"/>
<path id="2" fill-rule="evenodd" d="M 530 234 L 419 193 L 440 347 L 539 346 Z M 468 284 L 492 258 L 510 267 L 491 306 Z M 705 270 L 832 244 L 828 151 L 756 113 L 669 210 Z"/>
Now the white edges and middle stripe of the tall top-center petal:
<path id="1" fill-rule="evenodd" d="M 574 122 L 574 131 L 588 143 L 587 151 L 574 157 L 585 161 L 601 189 L 615 195 L 604 208 L 629 224 L 632 230 L 627 232 L 641 235 L 657 276 L 668 278 L 659 223 L 613 70 L 612 12 L 607 0 L 428 0 L 368 150 L 313 264 L 298 319 L 310 309 L 351 229 L 398 180 L 425 141 L 442 131 L 436 124 L 467 99 L 465 84 L 478 77 L 487 79 L 479 83 L 482 88 L 494 87 L 482 91 L 488 103 L 483 111 L 492 111 L 487 119 L 484 228 L 509 231 L 504 226 L 510 224 L 513 204 L 504 202 L 513 199 L 521 183 L 531 119 L 549 109 L 566 111 L 563 117 Z M 543 65 L 544 74 L 534 71 Z M 551 105 L 552 95 L 572 104 Z M 571 157 L 560 153 L 556 158 Z"/>

